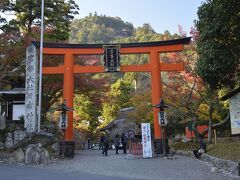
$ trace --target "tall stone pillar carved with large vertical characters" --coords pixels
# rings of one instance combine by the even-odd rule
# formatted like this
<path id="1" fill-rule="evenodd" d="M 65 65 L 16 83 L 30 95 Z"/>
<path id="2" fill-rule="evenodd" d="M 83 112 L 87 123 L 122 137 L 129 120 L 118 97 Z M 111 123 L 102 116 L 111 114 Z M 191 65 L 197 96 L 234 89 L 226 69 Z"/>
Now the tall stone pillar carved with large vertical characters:
<path id="1" fill-rule="evenodd" d="M 24 128 L 28 132 L 37 129 L 37 50 L 30 45 L 26 52 L 26 86 L 25 86 L 25 117 Z"/>

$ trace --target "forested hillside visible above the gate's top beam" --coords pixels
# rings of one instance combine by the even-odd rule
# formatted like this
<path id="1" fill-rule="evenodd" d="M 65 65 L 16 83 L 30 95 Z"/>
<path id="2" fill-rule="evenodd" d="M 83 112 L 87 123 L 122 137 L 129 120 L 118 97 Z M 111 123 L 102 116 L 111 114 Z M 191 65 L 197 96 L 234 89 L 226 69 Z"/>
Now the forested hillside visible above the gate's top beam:
<path id="1" fill-rule="evenodd" d="M 94 15 L 75 19 L 71 24 L 71 43 L 110 43 L 110 42 L 147 42 L 174 39 L 169 31 L 156 33 L 150 24 L 133 27 L 119 17 Z"/>

